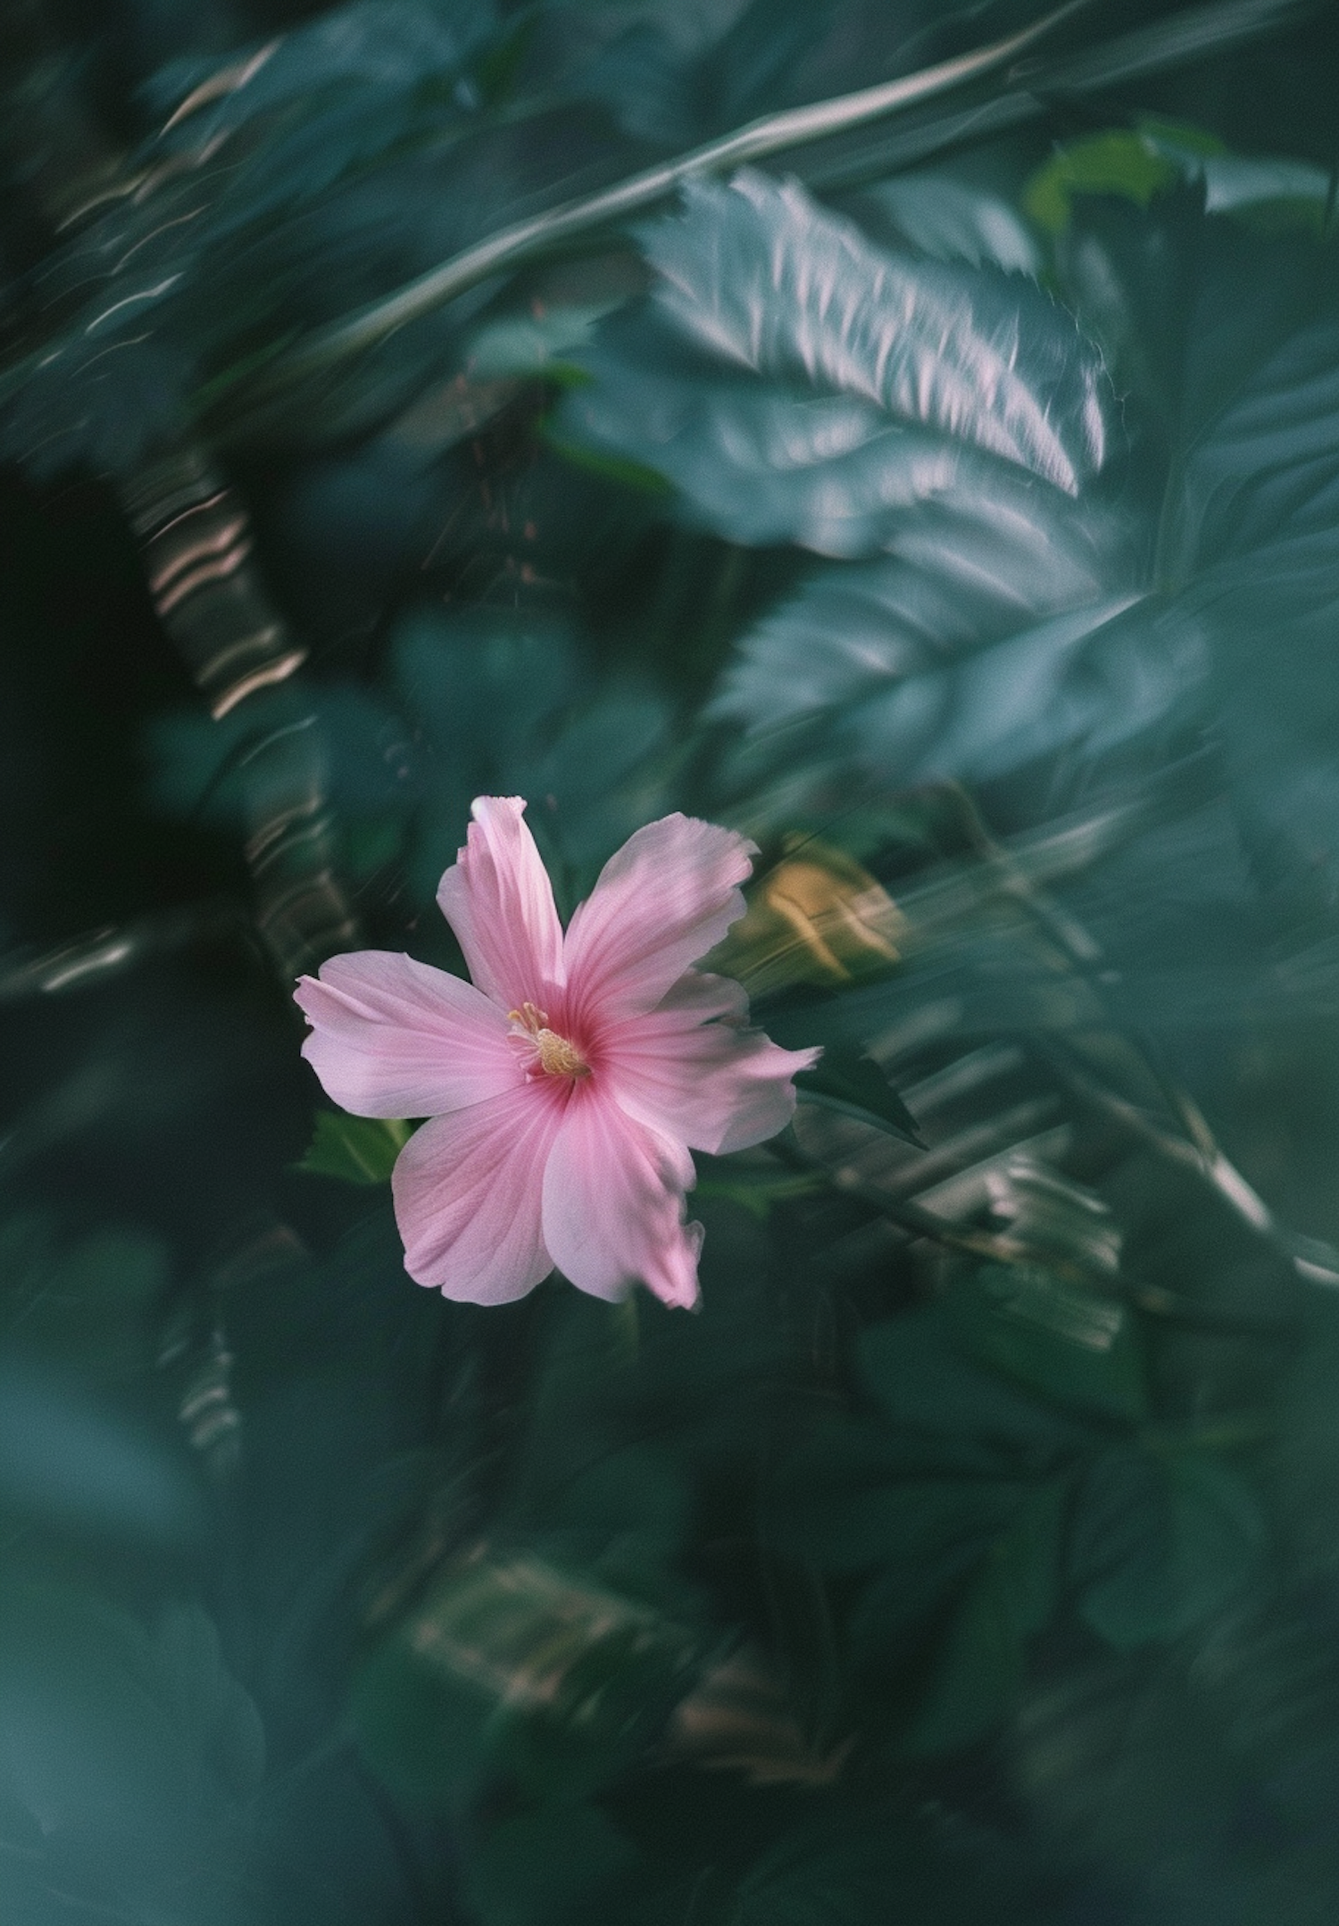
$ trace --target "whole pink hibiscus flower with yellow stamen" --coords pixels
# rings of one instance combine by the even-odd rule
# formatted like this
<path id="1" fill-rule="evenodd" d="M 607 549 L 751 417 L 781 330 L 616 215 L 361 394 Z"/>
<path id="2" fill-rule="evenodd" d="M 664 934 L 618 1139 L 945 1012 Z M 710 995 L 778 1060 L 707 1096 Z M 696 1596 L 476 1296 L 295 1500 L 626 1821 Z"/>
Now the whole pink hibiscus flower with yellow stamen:
<path id="1" fill-rule="evenodd" d="M 405 1267 L 505 1304 L 561 1269 L 620 1298 L 697 1302 L 690 1150 L 761 1144 L 817 1050 L 744 1028 L 736 982 L 690 965 L 744 915 L 753 846 L 665 817 L 605 863 L 566 936 L 516 795 L 480 795 L 437 903 L 472 984 L 385 950 L 302 976 L 302 1054 L 360 1117 L 428 1117 L 391 1188 Z"/>

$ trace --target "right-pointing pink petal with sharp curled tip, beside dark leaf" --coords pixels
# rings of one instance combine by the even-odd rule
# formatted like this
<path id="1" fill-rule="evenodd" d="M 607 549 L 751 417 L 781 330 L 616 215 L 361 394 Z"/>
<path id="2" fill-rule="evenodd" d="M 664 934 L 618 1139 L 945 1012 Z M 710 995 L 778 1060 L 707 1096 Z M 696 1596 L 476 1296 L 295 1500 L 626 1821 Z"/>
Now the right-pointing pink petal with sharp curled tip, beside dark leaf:
<path id="1" fill-rule="evenodd" d="M 738 984 L 690 971 L 659 1009 L 601 1034 L 603 1086 L 638 1123 L 692 1150 L 719 1156 L 776 1136 L 796 1113 L 792 1079 L 819 1052 L 742 1028 L 746 1009 Z"/>

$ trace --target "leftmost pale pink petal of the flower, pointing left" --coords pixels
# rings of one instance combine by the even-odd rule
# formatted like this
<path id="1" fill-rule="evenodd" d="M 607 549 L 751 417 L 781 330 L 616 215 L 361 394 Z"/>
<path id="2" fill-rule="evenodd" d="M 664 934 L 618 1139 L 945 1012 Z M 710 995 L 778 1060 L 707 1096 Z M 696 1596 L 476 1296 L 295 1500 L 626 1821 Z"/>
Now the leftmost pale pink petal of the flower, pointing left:
<path id="1" fill-rule="evenodd" d="M 524 1077 L 497 1003 L 430 963 L 360 950 L 293 994 L 312 1025 L 302 1055 L 358 1117 L 437 1117 Z"/>

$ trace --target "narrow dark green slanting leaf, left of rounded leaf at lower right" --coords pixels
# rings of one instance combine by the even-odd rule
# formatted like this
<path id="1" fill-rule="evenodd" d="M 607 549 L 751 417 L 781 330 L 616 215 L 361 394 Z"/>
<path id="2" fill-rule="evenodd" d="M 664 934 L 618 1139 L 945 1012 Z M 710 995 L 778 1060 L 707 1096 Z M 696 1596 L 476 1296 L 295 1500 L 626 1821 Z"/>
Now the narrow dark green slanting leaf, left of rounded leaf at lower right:
<path id="1" fill-rule="evenodd" d="M 1008 1718 L 1027 1643 L 1054 1618 L 1071 1481 L 1040 1485 L 1017 1508 L 967 1585 L 904 1737 L 909 1753 L 952 1753 Z"/>

